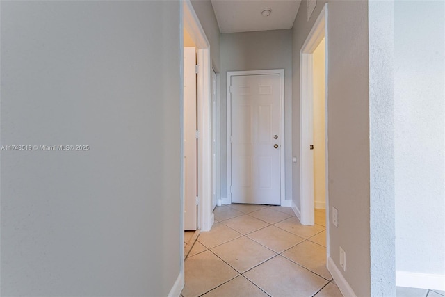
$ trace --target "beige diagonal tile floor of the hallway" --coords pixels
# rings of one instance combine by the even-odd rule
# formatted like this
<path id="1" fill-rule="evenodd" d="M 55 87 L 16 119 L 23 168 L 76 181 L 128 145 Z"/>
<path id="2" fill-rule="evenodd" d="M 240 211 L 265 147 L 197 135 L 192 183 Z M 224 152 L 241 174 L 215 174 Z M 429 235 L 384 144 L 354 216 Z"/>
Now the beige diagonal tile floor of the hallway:
<path id="1" fill-rule="evenodd" d="M 185 261 L 181 296 L 342 296 L 326 268 L 324 210 L 303 226 L 290 207 L 216 207 Z"/>

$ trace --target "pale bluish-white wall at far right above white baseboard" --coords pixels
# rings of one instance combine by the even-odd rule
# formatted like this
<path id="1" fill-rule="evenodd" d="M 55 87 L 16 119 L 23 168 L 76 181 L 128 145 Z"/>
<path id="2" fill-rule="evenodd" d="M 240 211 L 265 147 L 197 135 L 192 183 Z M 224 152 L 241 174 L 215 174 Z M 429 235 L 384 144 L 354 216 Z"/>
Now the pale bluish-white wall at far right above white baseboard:
<path id="1" fill-rule="evenodd" d="M 445 2 L 394 14 L 396 269 L 445 275 Z"/>

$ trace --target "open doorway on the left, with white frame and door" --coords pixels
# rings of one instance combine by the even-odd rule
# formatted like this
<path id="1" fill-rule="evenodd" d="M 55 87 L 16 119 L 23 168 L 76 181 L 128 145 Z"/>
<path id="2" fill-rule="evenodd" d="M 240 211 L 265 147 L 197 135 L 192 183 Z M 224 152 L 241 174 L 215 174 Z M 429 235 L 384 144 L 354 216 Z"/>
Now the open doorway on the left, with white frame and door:
<path id="1" fill-rule="evenodd" d="M 186 102 L 186 88 L 184 88 L 183 101 L 181 102 L 183 112 L 181 125 L 181 168 L 183 169 L 181 174 L 181 217 L 183 218 L 181 233 L 183 235 L 181 235 L 181 240 L 185 247 L 189 236 L 186 236 L 184 231 L 187 229 L 198 230 L 197 232 L 199 230 L 209 231 L 214 218 L 211 211 L 211 61 L 209 41 L 190 1 L 183 1 L 182 16 L 183 40 L 181 43 L 183 47 L 181 53 L 186 56 L 186 53 L 189 52 L 188 60 L 193 60 L 193 63 L 188 65 L 189 70 L 192 69 L 189 77 L 193 78 L 193 81 L 187 81 L 188 79 L 183 73 L 183 83 L 184 85 L 187 83 L 187 88 L 193 89 L 195 92 L 195 95 L 191 95 L 192 99 L 188 99 Z M 189 48 L 187 49 L 187 47 Z M 181 70 L 185 71 L 185 60 L 181 66 Z M 189 104 L 191 102 L 193 102 L 192 105 Z M 190 148 L 186 147 L 186 142 L 195 144 Z M 188 151 L 186 152 L 186 150 Z M 186 162 L 185 159 L 191 156 L 193 156 L 192 161 Z M 189 167 L 193 167 L 190 172 L 188 171 Z M 193 189 L 190 191 L 191 195 L 186 195 L 188 189 Z M 196 236 L 197 233 L 192 239 Z M 184 248 L 181 250 L 181 255 L 184 258 Z"/>

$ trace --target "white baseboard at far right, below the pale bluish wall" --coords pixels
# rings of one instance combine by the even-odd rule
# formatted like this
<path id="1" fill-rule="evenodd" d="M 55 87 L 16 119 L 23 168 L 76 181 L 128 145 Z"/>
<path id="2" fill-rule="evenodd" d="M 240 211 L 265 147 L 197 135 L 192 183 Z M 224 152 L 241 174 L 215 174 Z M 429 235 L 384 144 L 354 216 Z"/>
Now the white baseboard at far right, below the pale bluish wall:
<path id="1" fill-rule="evenodd" d="M 445 275 L 396 271 L 396 286 L 445 291 Z"/>

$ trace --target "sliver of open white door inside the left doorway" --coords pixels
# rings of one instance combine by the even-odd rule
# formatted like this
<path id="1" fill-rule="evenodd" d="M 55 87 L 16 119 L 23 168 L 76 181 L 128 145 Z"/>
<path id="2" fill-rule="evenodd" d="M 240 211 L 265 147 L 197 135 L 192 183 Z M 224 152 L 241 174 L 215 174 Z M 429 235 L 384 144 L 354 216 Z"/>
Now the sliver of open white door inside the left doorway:
<path id="1" fill-rule="evenodd" d="M 196 49 L 184 47 L 184 230 L 197 229 Z"/>

